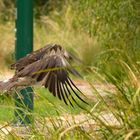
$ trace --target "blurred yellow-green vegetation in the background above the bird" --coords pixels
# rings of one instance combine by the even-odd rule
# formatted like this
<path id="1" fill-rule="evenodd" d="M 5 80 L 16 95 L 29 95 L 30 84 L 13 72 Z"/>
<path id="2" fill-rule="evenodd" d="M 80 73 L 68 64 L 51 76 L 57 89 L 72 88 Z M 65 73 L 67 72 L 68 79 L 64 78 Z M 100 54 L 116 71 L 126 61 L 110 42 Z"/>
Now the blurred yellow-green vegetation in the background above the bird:
<path id="1" fill-rule="evenodd" d="M 139 9 L 137 0 L 34 0 L 34 46 L 62 44 L 101 71 L 119 71 L 118 60 L 128 61 L 126 56 L 139 65 Z M 12 60 L 14 20 L 15 0 L 0 0 L 0 60 L 6 64 Z"/>

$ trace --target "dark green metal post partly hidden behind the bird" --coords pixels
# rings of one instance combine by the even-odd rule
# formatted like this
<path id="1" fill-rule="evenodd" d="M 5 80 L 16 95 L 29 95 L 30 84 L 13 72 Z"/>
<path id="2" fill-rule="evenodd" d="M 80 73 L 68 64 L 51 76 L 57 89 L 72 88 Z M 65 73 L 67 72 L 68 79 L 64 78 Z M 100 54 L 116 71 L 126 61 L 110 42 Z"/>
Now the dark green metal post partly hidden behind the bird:
<path id="1" fill-rule="evenodd" d="M 33 50 L 33 0 L 16 0 L 16 60 Z M 22 89 L 15 95 L 16 123 L 31 123 L 33 110 L 33 91 L 31 87 Z"/>

